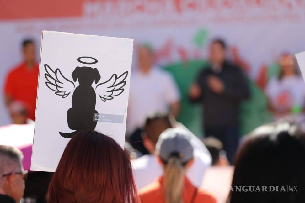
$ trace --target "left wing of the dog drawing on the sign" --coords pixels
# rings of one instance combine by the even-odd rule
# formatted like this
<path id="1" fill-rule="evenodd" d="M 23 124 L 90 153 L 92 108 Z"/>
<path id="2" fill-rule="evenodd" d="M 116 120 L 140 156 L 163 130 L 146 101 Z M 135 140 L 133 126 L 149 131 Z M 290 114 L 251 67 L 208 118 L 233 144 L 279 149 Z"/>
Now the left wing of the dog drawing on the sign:
<path id="1" fill-rule="evenodd" d="M 48 64 L 45 64 L 45 85 L 52 91 L 55 91 L 56 95 L 66 98 L 75 88 L 74 83 L 65 76 L 57 68 L 55 71 L 50 68 Z"/>

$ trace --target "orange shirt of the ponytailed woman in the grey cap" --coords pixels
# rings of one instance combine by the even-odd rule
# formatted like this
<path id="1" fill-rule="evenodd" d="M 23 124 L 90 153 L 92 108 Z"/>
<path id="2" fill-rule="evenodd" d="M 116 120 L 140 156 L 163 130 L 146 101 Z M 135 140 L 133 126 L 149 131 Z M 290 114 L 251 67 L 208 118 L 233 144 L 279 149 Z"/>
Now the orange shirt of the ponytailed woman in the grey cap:
<path id="1" fill-rule="evenodd" d="M 165 203 L 165 195 L 163 189 L 163 177 L 147 185 L 139 191 L 142 203 Z M 216 203 L 215 198 L 198 188 L 194 201 L 192 201 L 196 188 L 185 177 L 184 187 L 182 189 L 182 197 L 184 203 Z"/>

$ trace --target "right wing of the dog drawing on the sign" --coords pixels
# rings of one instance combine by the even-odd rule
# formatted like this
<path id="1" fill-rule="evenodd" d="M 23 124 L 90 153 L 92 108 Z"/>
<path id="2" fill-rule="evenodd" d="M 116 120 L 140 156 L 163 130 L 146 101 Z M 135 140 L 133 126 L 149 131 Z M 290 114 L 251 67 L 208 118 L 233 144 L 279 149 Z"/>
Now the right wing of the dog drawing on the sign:
<path id="1" fill-rule="evenodd" d="M 111 100 L 114 96 L 123 93 L 124 86 L 126 85 L 126 77 L 128 72 L 124 72 L 119 77 L 113 74 L 106 82 L 100 83 L 95 87 L 95 92 L 98 93 L 102 101 Z"/>

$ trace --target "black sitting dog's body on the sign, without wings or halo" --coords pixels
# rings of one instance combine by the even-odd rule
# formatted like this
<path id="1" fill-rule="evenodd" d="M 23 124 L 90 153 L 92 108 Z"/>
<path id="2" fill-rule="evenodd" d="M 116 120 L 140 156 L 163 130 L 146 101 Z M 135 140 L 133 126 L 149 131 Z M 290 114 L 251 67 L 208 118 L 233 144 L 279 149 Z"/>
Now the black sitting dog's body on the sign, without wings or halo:
<path id="1" fill-rule="evenodd" d="M 99 71 L 91 67 L 76 67 L 72 73 L 73 81 L 78 80 L 79 86 L 73 92 L 72 107 L 67 111 L 67 122 L 70 129 L 75 130 L 72 133 L 59 134 L 64 138 L 72 138 L 76 133 L 94 129 L 97 122 L 93 121 L 95 110 L 96 93 L 91 86 L 93 82 L 97 84 L 101 79 Z"/>

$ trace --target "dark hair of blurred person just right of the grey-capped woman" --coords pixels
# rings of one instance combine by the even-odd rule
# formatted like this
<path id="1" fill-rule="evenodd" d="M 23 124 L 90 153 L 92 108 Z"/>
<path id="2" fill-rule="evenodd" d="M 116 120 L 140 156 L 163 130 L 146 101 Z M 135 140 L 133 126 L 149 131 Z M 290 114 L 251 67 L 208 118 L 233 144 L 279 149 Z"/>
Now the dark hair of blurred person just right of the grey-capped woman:
<path id="1" fill-rule="evenodd" d="M 212 165 L 217 165 L 219 161 L 219 153 L 223 148 L 222 142 L 217 138 L 208 137 L 203 139 L 203 143 L 212 156 Z"/>

